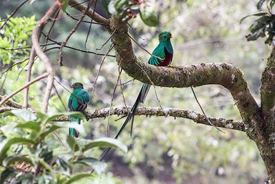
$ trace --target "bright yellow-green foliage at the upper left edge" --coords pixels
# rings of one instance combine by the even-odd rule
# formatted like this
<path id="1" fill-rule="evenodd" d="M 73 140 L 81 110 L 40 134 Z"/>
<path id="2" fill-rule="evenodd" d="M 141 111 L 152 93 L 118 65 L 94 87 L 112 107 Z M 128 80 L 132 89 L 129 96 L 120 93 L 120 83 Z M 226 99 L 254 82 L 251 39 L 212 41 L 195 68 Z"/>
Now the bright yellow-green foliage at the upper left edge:
<path id="1" fill-rule="evenodd" d="M 29 54 L 30 49 L 21 50 L 20 48 L 27 46 L 27 39 L 32 34 L 35 24 L 35 15 L 32 15 L 32 17 L 11 17 L 0 30 L 0 61 L 3 64 L 17 61 L 23 55 Z M 7 50 L 13 48 L 19 49 Z"/>

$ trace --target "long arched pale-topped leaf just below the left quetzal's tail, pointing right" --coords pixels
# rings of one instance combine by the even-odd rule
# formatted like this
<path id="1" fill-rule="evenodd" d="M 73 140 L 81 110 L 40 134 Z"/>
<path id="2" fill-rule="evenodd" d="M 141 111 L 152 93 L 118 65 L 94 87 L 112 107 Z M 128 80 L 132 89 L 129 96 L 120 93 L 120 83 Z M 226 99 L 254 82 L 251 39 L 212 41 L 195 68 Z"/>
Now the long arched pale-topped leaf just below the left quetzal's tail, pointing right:
<path id="1" fill-rule="evenodd" d="M 100 139 L 96 139 L 94 141 L 91 141 L 90 143 L 87 143 L 83 147 L 83 152 L 93 148 L 93 147 L 118 147 L 123 152 L 127 152 L 127 147 L 117 139 L 111 139 L 109 137 L 104 137 Z"/>

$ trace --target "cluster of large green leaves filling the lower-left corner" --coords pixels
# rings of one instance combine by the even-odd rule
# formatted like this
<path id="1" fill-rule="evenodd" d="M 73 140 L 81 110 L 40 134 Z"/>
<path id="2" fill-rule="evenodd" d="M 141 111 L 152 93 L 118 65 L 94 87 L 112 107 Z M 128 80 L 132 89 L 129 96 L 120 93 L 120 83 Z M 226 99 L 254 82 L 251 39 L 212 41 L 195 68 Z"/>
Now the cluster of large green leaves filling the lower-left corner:
<path id="1" fill-rule="evenodd" d="M 41 112 L 33 114 L 30 110 L 5 112 L 2 119 L 14 116 L 14 121 L 1 127 L 0 183 L 73 183 L 94 176 L 90 173 L 92 170 L 101 174 L 106 168 L 106 163 L 90 156 L 91 149 L 118 147 L 123 152 L 127 151 L 120 141 L 110 138 L 88 141 L 67 135 L 67 144 L 63 145 L 61 140 L 56 140 L 60 138 L 54 132 L 67 129 L 69 125 L 52 121 L 59 116 L 68 115 L 85 119 L 79 112 L 51 116 Z M 74 128 L 83 132 L 80 125 Z M 88 171 L 80 173 L 74 169 L 77 165 L 87 167 Z"/>

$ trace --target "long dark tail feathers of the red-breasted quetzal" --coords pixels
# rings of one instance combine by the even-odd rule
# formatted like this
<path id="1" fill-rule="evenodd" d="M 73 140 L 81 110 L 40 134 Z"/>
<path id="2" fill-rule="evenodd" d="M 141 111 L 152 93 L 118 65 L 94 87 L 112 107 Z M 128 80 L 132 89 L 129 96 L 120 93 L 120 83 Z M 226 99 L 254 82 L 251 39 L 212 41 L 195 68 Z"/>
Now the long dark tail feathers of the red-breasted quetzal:
<path id="1" fill-rule="evenodd" d="M 131 112 L 130 114 L 127 116 L 126 120 L 124 121 L 122 127 L 120 128 L 120 130 L 118 131 L 118 134 L 115 135 L 115 139 L 118 139 L 118 136 L 120 136 L 121 132 L 124 130 L 124 128 L 126 127 L 127 123 L 129 121 L 131 121 L 131 136 L 132 136 L 132 132 L 133 132 L 133 121 L 135 119 L 135 112 L 137 111 L 137 107 L 138 105 L 140 105 L 140 103 L 144 102 L 144 99 L 146 98 L 146 95 L 148 94 L 148 91 L 150 89 L 151 85 L 150 84 L 146 84 L 144 83 L 144 85 L 142 85 L 142 89 L 140 90 L 140 94 L 138 94 L 137 99 L 135 100 L 135 104 L 133 105 L 133 107 L 131 108 Z M 100 155 L 100 161 L 102 161 L 102 159 L 104 159 L 104 156 L 106 156 L 106 154 L 108 154 L 108 152 L 111 150 L 111 147 L 107 147 L 104 149 L 104 151 L 102 152 L 102 154 Z"/>

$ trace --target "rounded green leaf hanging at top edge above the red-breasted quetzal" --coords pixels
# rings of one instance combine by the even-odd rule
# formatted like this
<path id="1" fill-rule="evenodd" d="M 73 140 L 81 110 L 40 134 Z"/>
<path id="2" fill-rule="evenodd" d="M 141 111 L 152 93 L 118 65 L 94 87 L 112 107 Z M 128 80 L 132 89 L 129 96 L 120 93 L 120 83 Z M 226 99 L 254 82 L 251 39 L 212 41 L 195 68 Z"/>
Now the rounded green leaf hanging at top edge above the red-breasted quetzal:
<path id="1" fill-rule="evenodd" d="M 158 19 L 157 14 L 154 12 L 154 0 L 148 0 L 144 2 L 144 6 L 140 8 L 140 18 L 142 21 L 151 27 L 157 26 Z"/>

